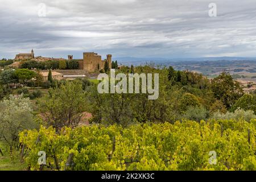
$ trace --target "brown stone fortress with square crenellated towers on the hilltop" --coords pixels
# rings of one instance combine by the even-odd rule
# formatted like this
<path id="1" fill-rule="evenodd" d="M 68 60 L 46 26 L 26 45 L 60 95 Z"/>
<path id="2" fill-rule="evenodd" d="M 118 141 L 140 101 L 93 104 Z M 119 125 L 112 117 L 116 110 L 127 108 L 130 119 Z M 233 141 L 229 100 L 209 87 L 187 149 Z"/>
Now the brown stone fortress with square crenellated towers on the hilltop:
<path id="1" fill-rule="evenodd" d="M 101 56 L 97 53 L 84 52 L 82 64 L 80 64 L 80 69 L 84 69 L 88 72 L 100 71 L 101 69 L 104 69 L 105 63 L 108 63 L 109 68 L 111 68 L 112 55 L 107 55 L 105 60 L 101 60 Z"/>

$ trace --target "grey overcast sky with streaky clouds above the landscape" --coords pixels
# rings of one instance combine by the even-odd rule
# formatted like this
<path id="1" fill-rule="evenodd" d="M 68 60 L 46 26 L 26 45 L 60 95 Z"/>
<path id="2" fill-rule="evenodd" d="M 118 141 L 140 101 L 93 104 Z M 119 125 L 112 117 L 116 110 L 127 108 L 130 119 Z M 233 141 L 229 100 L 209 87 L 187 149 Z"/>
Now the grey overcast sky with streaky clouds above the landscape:
<path id="1" fill-rule="evenodd" d="M 209 3 L 217 17 L 210 17 Z M 43 6 L 46 5 L 46 16 Z M 0 0 L 0 57 L 256 57 L 255 0 Z"/>

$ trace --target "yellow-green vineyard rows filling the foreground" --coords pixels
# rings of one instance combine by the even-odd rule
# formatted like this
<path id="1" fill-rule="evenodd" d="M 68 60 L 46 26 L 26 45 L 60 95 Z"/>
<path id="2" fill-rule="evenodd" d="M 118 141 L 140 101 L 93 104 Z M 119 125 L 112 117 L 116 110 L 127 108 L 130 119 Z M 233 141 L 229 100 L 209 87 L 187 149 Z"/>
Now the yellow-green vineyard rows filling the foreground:
<path id="1" fill-rule="evenodd" d="M 19 134 L 30 170 L 255 170 L 256 119 L 53 127 Z M 39 151 L 46 164 L 39 165 Z M 209 159 L 216 152 L 216 163 Z"/>

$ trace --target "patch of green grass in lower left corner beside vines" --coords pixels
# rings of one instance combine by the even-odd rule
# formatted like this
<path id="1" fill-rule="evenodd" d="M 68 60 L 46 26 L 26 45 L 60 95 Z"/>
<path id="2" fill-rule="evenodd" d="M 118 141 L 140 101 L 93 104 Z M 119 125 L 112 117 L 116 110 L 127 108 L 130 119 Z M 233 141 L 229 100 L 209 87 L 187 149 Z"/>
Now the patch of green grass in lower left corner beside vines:
<path id="1" fill-rule="evenodd" d="M 0 171 L 26 170 L 27 165 L 19 161 L 19 152 L 15 152 L 14 159 L 11 159 L 7 147 L 4 146 L 3 142 L 0 142 L 0 148 L 3 151 L 3 156 L 0 154 Z"/>

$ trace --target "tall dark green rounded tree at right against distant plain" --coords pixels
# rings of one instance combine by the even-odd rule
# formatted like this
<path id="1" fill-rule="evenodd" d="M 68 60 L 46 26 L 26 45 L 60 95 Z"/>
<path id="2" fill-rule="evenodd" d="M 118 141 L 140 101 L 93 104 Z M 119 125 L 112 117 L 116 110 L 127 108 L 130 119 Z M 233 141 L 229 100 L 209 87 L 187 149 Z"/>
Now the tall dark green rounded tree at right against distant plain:
<path id="1" fill-rule="evenodd" d="M 213 79 L 211 88 L 214 97 L 217 100 L 221 100 L 228 108 L 234 105 L 243 95 L 240 84 L 234 81 L 229 73 L 225 72 Z"/>

